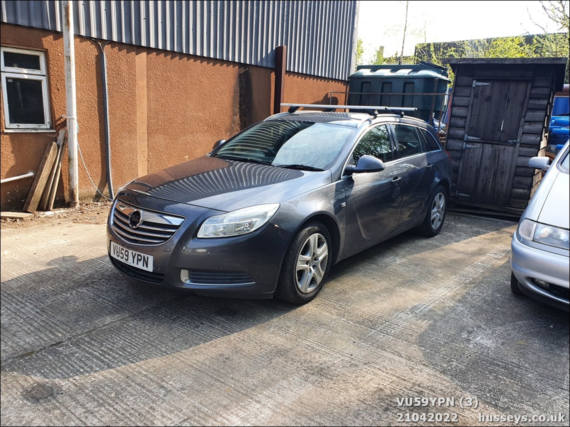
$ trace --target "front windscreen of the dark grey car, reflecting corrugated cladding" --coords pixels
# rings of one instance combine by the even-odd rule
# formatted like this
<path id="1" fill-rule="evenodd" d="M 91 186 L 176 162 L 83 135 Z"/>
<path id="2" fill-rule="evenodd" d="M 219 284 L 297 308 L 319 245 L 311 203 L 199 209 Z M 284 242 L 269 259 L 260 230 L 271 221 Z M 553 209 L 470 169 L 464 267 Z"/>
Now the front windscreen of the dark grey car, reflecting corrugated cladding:
<path id="1" fill-rule="evenodd" d="M 354 130 L 330 123 L 260 122 L 235 135 L 213 156 L 256 160 L 275 166 L 296 164 L 327 169 Z"/>

